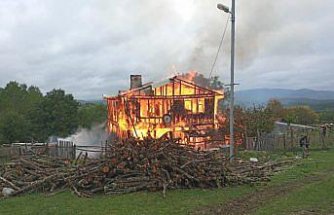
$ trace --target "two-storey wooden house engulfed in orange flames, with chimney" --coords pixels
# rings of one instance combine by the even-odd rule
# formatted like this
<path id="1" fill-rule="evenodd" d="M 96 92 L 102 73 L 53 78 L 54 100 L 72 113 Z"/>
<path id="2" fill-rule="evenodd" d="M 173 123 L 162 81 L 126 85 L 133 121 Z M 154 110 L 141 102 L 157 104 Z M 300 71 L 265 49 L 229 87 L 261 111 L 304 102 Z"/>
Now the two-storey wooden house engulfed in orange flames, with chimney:
<path id="1" fill-rule="evenodd" d="M 180 138 L 183 143 L 206 148 L 217 128 L 218 100 L 223 92 L 175 76 L 164 82 L 142 84 L 131 75 L 130 89 L 105 96 L 108 131 L 117 138 Z"/>

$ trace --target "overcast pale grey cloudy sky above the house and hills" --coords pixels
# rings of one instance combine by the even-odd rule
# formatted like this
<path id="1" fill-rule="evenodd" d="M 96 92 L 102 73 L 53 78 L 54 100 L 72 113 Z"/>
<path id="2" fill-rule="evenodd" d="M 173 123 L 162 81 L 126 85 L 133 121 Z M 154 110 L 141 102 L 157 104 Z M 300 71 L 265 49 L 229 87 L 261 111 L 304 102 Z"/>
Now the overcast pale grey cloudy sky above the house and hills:
<path id="1" fill-rule="evenodd" d="M 230 0 L 0 0 L 0 87 L 101 99 L 130 74 L 208 76 Z M 237 90 L 333 90 L 333 0 L 236 0 Z M 230 76 L 230 22 L 212 75 Z"/>

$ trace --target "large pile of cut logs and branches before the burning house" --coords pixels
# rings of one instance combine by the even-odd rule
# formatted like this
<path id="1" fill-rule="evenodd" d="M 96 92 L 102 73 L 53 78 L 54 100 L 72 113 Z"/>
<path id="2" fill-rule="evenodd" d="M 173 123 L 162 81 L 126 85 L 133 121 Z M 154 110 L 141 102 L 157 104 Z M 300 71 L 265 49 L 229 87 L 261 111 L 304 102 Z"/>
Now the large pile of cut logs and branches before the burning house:
<path id="1" fill-rule="evenodd" d="M 282 163 L 230 164 L 219 150 L 197 151 L 176 140 L 128 140 L 109 145 L 103 158 L 18 158 L 0 167 L 4 196 L 66 189 L 82 197 L 182 188 L 216 188 L 269 180 Z"/>

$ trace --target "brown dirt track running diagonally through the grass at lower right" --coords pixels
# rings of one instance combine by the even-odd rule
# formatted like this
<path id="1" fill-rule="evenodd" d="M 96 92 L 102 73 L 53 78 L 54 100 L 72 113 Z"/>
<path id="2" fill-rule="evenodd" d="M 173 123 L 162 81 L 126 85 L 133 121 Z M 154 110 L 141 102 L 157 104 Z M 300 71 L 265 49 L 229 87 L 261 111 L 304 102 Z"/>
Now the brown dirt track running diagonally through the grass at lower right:
<path id="1" fill-rule="evenodd" d="M 264 188 L 259 191 L 254 191 L 246 196 L 234 199 L 224 205 L 218 205 L 213 207 L 202 208 L 193 214 L 195 215 L 209 215 L 209 214 L 221 214 L 221 215 L 241 215 L 241 214 L 251 214 L 256 211 L 257 208 L 267 204 L 273 198 L 279 196 L 285 196 L 293 190 L 297 190 L 306 184 L 311 184 L 314 182 L 319 182 L 325 178 L 332 177 L 334 174 L 334 169 L 327 172 L 319 173 L 317 175 L 306 176 L 302 181 L 292 181 L 286 184 L 275 185 L 268 188 Z M 309 213 L 296 213 L 296 214 L 316 214 L 312 211 L 307 211 Z"/>

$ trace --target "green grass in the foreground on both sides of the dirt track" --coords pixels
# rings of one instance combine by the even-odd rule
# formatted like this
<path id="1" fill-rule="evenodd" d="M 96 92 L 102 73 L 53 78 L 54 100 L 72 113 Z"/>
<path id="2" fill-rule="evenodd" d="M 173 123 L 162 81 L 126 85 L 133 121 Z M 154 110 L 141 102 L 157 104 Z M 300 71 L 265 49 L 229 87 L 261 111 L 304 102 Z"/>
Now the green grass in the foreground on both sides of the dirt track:
<path id="1" fill-rule="evenodd" d="M 321 174 L 334 168 L 334 150 L 311 151 L 308 159 L 300 160 L 291 168 L 276 174 L 267 186 L 302 181 L 306 175 Z M 333 173 L 332 173 L 333 174 Z M 161 192 L 139 192 L 119 196 L 98 195 L 79 198 L 70 192 L 47 197 L 34 193 L 0 201 L 0 214 L 188 214 L 199 208 L 215 206 L 241 197 L 263 187 L 237 186 L 213 190 L 168 191 L 166 198 Z M 319 206 L 330 211 L 334 199 L 334 179 L 309 183 L 298 192 L 272 199 L 259 208 L 256 214 L 286 214 L 290 211 Z"/>

